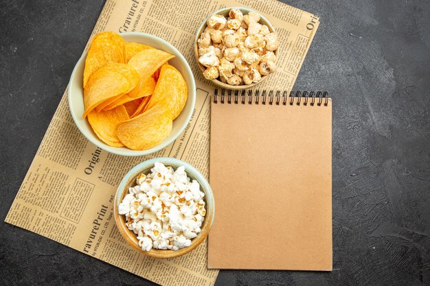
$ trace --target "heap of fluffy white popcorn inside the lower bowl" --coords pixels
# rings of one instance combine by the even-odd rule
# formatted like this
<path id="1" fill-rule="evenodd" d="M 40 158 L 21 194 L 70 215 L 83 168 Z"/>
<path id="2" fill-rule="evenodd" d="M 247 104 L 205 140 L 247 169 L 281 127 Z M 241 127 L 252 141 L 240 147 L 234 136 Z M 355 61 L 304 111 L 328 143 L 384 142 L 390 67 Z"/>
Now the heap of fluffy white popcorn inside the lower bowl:
<path id="1" fill-rule="evenodd" d="M 151 173 L 139 174 L 137 185 L 118 206 L 126 226 L 137 235 L 139 247 L 179 250 L 191 245 L 205 219 L 205 193 L 181 166 L 176 171 L 155 163 Z"/>

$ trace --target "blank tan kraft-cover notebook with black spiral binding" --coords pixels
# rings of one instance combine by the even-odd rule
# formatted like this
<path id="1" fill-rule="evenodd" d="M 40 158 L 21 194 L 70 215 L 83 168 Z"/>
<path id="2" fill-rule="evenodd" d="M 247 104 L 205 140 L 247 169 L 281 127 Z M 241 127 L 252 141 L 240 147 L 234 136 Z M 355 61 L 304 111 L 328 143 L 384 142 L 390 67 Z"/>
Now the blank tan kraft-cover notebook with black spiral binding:
<path id="1" fill-rule="evenodd" d="M 208 267 L 332 270 L 327 93 L 215 91 Z"/>

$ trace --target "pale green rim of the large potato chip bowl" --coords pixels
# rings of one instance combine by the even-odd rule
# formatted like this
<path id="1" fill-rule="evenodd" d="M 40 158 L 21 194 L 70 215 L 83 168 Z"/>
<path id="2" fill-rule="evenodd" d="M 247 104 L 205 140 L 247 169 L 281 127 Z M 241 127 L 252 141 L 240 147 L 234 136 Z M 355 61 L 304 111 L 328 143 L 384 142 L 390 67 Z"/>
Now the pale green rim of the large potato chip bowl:
<path id="1" fill-rule="evenodd" d="M 194 79 L 194 73 L 192 73 L 192 69 L 190 68 L 190 64 L 188 64 L 188 61 L 185 60 L 182 53 L 176 47 L 174 47 L 172 44 L 168 43 L 168 41 L 163 40 L 162 38 L 159 38 L 157 36 L 154 36 L 154 35 L 151 35 L 148 33 L 142 33 L 142 32 L 120 33 L 120 36 L 128 36 L 128 35 L 144 36 L 147 38 L 151 38 L 152 40 L 157 40 L 157 41 L 161 42 L 163 45 L 167 45 L 168 47 L 170 47 L 170 49 L 173 49 L 174 51 L 177 52 L 177 55 L 175 55 L 175 56 L 177 56 L 181 60 L 181 62 L 184 63 L 185 69 L 187 70 L 188 73 L 190 73 L 191 81 L 187 82 L 187 84 L 190 84 L 190 86 L 188 86 L 188 90 L 191 91 L 191 94 L 192 94 L 191 98 L 190 97 L 187 98 L 187 101 L 191 100 L 190 112 L 188 112 L 188 115 L 185 118 L 185 121 L 183 122 L 183 124 L 181 126 L 179 126 L 177 132 L 175 132 L 174 134 L 171 133 L 169 135 L 169 136 L 171 136 L 170 139 L 164 140 L 159 145 L 152 147 L 150 149 L 147 149 L 147 150 L 131 150 L 131 149 L 127 148 L 127 150 L 125 152 L 123 152 L 122 149 L 120 149 L 122 147 L 112 147 L 112 146 L 109 146 L 109 145 L 102 143 L 102 141 L 100 139 L 98 139 L 97 135 L 95 135 L 95 134 L 94 134 L 94 136 L 95 136 L 94 139 L 87 136 L 85 134 L 84 130 L 82 129 L 82 127 L 80 126 L 80 124 L 78 123 L 78 118 L 76 117 L 76 114 L 72 111 L 73 108 L 71 106 L 71 82 L 73 81 L 73 78 L 76 74 L 76 69 L 78 69 L 78 65 L 81 64 L 81 62 L 84 61 L 85 58 L 87 58 L 88 51 L 84 51 L 82 53 L 82 56 L 80 56 L 78 62 L 76 62 L 75 67 L 73 67 L 73 71 L 71 72 L 71 76 L 70 76 L 70 80 L 69 80 L 69 85 L 67 86 L 67 101 L 69 104 L 69 110 L 71 113 L 71 117 L 73 118 L 73 122 L 75 123 L 76 127 L 78 127 L 78 130 L 80 131 L 82 136 L 84 136 L 88 141 L 90 141 L 91 143 L 93 143 L 94 145 L 99 147 L 100 149 L 105 150 L 106 152 L 109 152 L 112 154 L 116 154 L 116 155 L 120 155 L 120 156 L 144 156 L 144 155 L 155 153 L 155 152 L 163 149 L 164 147 L 168 146 L 173 141 L 175 141 L 178 138 L 178 136 L 181 135 L 183 130 L 185 130 L 185 127 L 188 125 L 188 123 L 190 123 L 190 119 L 192 117 L 192 111 L 194 110 L 194 108 L 196 106 L 196 81 Z M 82 94 L 83 94 L 83 87 L 82 87 Z M 83 98 L 82 98 L 82 100 L 83 100 Z M 173 130 L 172 130 L 172 132 L 173 132 Z"/>

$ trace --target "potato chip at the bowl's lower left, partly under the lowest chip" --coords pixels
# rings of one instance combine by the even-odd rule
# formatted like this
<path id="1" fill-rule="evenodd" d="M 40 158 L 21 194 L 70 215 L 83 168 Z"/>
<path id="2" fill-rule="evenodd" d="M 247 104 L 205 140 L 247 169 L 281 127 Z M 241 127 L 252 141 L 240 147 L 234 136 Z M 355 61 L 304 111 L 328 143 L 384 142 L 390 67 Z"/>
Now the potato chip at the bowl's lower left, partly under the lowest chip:
<path id="1" fill-rule="evenodd" d="M 124 144 L 118 139 L 116 130 L 123 122 L 128 120 L 127 110 L 124 106 L 118 106 L 108 111 L 97 112 L 95 110 L 89 112 L 88 122 L 93 128 L 98 138 L 109 146 L 122 147 Z"/>

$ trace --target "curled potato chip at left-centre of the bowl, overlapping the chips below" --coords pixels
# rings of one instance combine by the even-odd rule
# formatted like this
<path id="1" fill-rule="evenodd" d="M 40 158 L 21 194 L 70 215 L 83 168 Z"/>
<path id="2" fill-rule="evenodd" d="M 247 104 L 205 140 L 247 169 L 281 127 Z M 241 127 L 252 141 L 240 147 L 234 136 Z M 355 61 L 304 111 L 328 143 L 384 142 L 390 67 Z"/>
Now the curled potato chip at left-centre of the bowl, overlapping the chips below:
<path id="1" fill-rule="evenodd" d="M 128 64 L 108 64 L 96 71 L 84 88 L 85 112 L 87 117 L 94 108 L 98 112 L 124 93 L 131 91 L 139 82 L 139 75 Z"/>

